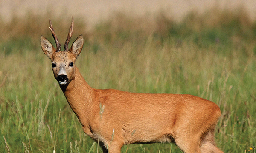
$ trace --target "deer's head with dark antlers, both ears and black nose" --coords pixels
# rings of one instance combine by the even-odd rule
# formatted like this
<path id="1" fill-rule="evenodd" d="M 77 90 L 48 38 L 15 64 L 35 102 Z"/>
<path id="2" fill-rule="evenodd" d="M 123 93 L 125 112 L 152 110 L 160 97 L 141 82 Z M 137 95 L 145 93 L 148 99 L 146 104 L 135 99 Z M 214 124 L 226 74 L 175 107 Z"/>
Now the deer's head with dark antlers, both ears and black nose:
<path id="1" fill-rule="evenodd" d="M 84 39 L 83 36 L 80 35 L 73 42 L 72 46 L 68 48 L 68 43 L 70 42 L 74 26 L 74 20 L 72 17 L 69 34 L 67 35 L 67 40 L 64 44 L 65 50 L 61 51 L 61 44 L 53 30 L 51 20 L 49 21 L 49 28 L 56 42 L 56 49 L 44 36 L 41 36 L 41 48 L 44 51 L 44 54 L 46 54 L 52 61 L 52 71 L 55 79 L 60 85 L 66 85 L 75 78 L 75 62 L 83 48 Z"/>

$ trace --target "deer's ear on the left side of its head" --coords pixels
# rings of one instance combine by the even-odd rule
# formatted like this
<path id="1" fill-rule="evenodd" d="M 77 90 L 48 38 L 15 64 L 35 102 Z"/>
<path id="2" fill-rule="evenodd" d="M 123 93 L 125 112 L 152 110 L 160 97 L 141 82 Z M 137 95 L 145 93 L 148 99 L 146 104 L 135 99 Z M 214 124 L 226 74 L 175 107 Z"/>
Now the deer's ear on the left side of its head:
<path id="1" fill-rule="evenodd" d="M 46 54 L 47 57 L 51 58 L 52 54 L 56 51 L 56 49 L 52 46 L 51 42 L 49 42 L 44 36 L 40 37 L 40 42 L 44 54 Z"/>

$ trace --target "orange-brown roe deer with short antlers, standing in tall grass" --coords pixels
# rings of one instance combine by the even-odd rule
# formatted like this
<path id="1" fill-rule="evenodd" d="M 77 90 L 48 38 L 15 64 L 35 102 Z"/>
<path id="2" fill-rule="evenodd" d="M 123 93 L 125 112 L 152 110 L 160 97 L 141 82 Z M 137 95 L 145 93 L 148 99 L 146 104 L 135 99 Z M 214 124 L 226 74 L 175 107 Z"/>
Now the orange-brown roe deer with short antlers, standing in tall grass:
<path id="1" fill-rule="evenodd" d="M 94 89 L 75 62 L 84 40 L 80 35 L 68 48 L 73 17 L 64 51 L 52 28 L 56 49 L 41 36 L 41 48 L 52 61 L 52 71 L 84 133 L 99 141 L 104 153 L 120 153 L 133 143 L 173 142 L 185 153 L 223 153 L 215 145 L 218 105 L 188 94 L 130 93 Z"/>

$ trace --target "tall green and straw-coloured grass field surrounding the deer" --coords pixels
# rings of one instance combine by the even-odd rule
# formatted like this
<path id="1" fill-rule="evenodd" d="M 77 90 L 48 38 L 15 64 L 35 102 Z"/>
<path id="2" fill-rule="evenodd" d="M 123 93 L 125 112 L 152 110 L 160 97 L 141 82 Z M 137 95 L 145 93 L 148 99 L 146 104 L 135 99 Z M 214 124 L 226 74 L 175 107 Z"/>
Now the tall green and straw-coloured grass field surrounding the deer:
<path id="1" fill-rule="evenodd" d="M 1 153 L 97 152 L 41 51 L 41 35 L 54 42 L 49 17 L 63 47 L 71 17 L 0 19 Z M 256 22 L 246 11 L 191 12 L 180 23 L 165 13 L 153 18 L 116 13 L 89 32 L 83 18 L 74 20 L 70 42 L 85 37 L 76 65 L 90 86 L 209 99 L 222 112 L 218 147 L 244 153 L 256 145 Z M 122 153 L 126 150 L 181 153 L 175 144 L 133 144 Z"/>

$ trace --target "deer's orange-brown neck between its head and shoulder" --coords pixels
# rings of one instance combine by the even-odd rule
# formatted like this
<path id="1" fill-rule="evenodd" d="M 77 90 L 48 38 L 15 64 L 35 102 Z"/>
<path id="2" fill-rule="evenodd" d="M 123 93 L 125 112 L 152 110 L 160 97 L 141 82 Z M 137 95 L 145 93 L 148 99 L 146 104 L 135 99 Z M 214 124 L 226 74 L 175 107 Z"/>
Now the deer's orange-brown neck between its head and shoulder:
<path id="1" fill-rule="evenodd" d="M 94 89 L 87 84 L 77 67 L 75 79 L 71 80 L 68 85 L 60 85 L 60 87 L 81 124 L 86 125 L 90 106 L 93 105 Z"/>

